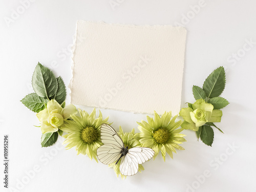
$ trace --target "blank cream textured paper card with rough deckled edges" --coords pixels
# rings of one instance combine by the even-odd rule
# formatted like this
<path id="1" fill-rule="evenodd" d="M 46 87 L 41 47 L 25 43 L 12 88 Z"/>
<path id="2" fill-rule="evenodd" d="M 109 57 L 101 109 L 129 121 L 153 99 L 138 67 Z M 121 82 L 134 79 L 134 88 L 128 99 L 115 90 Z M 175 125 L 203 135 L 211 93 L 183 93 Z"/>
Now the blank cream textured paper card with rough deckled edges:
<path id="1" fill-rule="evenodd" d="M 183 27 L 78 21 L 71 103 L 178 114 L 185 41 Z"/>

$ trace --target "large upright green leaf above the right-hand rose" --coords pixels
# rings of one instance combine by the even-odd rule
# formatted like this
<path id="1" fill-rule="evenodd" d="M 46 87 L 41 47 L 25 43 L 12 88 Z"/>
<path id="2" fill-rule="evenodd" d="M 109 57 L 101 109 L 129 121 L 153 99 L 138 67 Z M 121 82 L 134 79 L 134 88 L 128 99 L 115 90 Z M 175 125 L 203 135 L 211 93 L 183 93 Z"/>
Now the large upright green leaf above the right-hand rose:
<path id="1" fill-rule="evenodd" d="M 225 70 L 223 67 L 219 67 L 205 79 L 203 90 L 209 98 L 218 97 L 223 92 L 225 83 Z"/>

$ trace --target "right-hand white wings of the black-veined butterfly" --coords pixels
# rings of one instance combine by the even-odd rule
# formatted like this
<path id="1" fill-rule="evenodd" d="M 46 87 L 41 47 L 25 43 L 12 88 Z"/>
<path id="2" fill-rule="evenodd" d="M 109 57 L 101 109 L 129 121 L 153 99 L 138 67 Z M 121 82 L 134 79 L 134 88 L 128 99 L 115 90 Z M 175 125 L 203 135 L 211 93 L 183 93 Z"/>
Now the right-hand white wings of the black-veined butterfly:
<path id="1" fill-rule="evenodd" d="M 120 163 L 120 173 L 125 176 L 132 176 L 138 173 L 139 164 L 150 160 L 155 155 L 152 148 L 133 147 L 122 158 Z"/>

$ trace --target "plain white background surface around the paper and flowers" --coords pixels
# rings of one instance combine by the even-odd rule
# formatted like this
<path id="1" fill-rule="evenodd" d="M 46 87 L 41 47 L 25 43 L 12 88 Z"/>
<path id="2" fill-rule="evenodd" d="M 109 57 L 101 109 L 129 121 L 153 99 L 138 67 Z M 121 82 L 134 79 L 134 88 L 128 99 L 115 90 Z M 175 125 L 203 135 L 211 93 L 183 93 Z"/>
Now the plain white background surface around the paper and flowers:
<path id="1" fill-rule="evenodd" d="M 205 0 L 197 14 L 189 6 L 198 5 L 198 0 L 119 2 L 122 3 L 113 10 L 109 0 L 38 0 L 27 8 L 20 7 L 19 1 L 1 0 L 0 159 L 3 159 L 3 135 L 8 134 L 9 187 L 13 189 L 10 191 L 194 191 L 188 186 L 198 188 L 196 191 L 256 191 L 256 2 Z M 18 17 L 12 15 L 17 9 Z M 182 19 L 187 14 L 189 22 Z M 9 25 L 7 17 L 13 19 Z M 187 43 L 182 107 L 185 102 L 194 102 L 193 84 L 202 86 L 210 72 L 225 66 L 227 83 L 222 96 L 230 104 L 223 109 L 222 122 L 216 123 L 225 134 L 215 129 L 214 144 L 209 147 L 198 142 L 194 132 L 185 130 L 187 142 L 182 144 L 185 151 L 178 151 L 174 159 L 167 157 L 166 162 L 159 155 L 155 161 L 143 164 L 142 174 L 124 181 L 116 178 L 112 168 L 77 156 L 74 148 L 66 151 L 61 144 L 41 148 L 40 129 L 33 126 L 39 122 L 19 100 L 33 92 L 31 77 L 38 61 L 61 75 L 66 85 L 69 83 L 69 48 L 78 19 L 135 25 L 184 24 Z M 250 39 L 254 44 L 244 46 Z M 239 54 L 238 58 L 230 60 L 234 53 Z M 102 113 L 104 117 L 110 116 L 115 128 L 121 125 L 124 131 L 135 128 L 138 132 L 136 121 L 146 120 L 146 115 L 141 114 L 112 110 Z M 238 148 L 232 151 L 230 145 Z M 39 172 L 28 179 L 27 173 L 34 166 L 39 167 Z M 4 166 L 0 167 L 2 191 Z M 210 176 L 204 179 L 205 170 L 209 170 Z"/>

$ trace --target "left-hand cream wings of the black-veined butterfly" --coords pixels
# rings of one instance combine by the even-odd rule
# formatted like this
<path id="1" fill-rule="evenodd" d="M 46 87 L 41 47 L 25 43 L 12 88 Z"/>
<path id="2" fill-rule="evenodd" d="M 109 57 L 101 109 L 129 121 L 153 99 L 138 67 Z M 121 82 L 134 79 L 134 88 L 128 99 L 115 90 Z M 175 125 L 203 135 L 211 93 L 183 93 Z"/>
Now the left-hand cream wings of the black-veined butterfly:
<path id="1" fill-rule="evenodd" d="M 101 125 L 100 134 L 103 145 L 97 149 L 98 159 L 103 164 L 114 163 L 121 157 L 121 150 L 124 148 L 123 141 L 108 124 Z"/>

